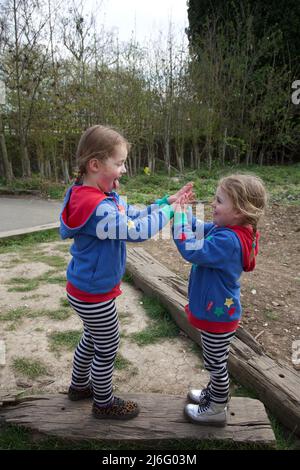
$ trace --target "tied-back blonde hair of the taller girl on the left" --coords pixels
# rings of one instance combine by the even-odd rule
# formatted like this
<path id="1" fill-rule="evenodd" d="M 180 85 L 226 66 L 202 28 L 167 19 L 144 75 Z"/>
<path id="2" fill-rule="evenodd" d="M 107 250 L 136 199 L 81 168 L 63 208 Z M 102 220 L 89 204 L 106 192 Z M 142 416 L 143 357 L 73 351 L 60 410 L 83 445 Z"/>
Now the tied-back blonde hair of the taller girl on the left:
<path id="1" fill-rule="evenodd" d="M 78 167 L 76 183 L 82 180 L 87 164 L 92 158 L 105 161 L 113 155 L 115 147 L 120 144 L 126 145 L 129 152 L 130 143 L 117 130 L 100 125 L 89 127 L 82 134 L 76 151 Z"/>

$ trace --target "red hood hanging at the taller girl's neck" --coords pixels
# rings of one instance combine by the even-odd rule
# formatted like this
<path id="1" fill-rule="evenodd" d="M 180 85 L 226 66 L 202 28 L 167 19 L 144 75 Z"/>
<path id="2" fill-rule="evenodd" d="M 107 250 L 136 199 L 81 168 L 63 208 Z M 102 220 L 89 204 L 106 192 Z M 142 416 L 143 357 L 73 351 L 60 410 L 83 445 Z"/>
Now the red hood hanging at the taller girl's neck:
<path id="1" fill-rule="evenodd" d="M 64 223 L 70 228 L 83 225 L 106 197 L 100 189 L 91 186 L 73 186 L 69 202 L 62 213 Z"/>

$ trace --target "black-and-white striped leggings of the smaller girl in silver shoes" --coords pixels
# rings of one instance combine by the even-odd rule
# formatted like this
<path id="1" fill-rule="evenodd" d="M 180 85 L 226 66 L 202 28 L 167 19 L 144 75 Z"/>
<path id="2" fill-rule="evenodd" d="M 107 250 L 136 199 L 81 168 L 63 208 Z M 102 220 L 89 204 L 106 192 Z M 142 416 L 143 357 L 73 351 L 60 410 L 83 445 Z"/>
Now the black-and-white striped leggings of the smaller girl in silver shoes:
<path id="1" fill-rule="evenodd" d="M 234 335 L 235 331 L 230 333 L 201 331 L 204 366 L 210 373 L 208 389 L 210 399 L 215 403 L 227 403 L 229 398 L 227 361 L 230 343 Z"/>

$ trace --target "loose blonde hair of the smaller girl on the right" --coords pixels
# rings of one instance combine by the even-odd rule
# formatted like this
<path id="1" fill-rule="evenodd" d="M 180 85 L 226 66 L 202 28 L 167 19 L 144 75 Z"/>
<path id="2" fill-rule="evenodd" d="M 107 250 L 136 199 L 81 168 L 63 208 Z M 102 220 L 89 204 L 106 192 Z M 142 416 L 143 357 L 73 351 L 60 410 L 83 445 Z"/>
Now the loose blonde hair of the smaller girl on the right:
<path id="1" fill-rule="evenodd" d="M 226 192 L 234 209 L 244 218 L 244 223 L 253 228 L 253 245 L 250 259 L 255 254 L 257 225 L 267 206 L 267 191 L 258 176 L 235 174 L 225 176 L 219 181 L 218 187 Z"/>

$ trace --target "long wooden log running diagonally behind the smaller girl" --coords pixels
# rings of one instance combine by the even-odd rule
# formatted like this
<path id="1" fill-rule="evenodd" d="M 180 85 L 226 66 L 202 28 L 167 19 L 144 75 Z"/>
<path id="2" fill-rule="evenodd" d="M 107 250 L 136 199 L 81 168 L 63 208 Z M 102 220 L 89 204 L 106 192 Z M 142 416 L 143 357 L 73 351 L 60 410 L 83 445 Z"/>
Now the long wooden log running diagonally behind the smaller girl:
<path id="1" fill-rule="evenodd" d="M 200 347 L 199 331 L 187 320 L 187 283 L 160 264 L 143 248 L 130 248 L 127 270 L 134 283 L 146 294 L 156 297 L 174 321 Z M 239 328 L 229 355 L 228 366 L 235 379 L 254 389 L 274 416 L 300 436 L 300 376 L 297 371 L 274 361 L 257 341 Z"/>

